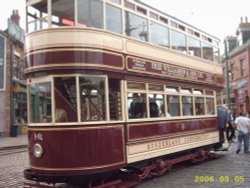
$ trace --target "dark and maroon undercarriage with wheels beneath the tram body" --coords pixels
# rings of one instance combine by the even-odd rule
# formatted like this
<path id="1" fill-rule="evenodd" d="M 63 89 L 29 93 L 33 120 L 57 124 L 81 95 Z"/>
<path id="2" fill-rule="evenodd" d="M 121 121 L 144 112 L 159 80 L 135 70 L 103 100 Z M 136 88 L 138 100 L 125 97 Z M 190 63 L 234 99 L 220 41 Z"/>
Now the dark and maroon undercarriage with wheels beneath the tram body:
<path id="1" fill-rule="evenodd" d="M 28 170 L 24 172 L 26 179 L 24 188 L 129 188 L 140 182 L 157 176 L 162 176 L 169 172 L 174 165 L 191 162 L 199 164 L 206 160 L 217 159 L 222 154 L 216 153 L 211 148 L 197 148 L 196 150 L 186 151 L 185 153 L 174 154 L 164 158 L 155 158 L 146 160 L 138 164 L 131 164 L 127 168 L 116 172 L 106 172 L 100 175 L 94 175 L 94 180 L 90 176 L 51 176 L 31 173 Z M 87 179 L 84 180 L 83 179 Z M 36 181 L 36 182 L 35 182 Z M 35 182 L 35 183 L 34 183 Z M 46 183 L 40 183 L 46 182 Z"/>

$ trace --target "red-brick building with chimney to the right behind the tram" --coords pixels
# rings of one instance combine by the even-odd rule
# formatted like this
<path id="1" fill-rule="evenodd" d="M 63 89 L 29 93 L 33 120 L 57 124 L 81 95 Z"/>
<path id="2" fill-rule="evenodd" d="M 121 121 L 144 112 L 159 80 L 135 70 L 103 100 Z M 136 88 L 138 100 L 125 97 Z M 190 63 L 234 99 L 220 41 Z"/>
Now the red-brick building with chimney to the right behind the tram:
<path id="1" fill-rule="evenodd" d="M 236 36 L 226 37 L 228 49 L 229 88 L 232 107 L 249 112 L 250 95 L 250 23 L 247 18 L 237 28 Z M 226 75 L 224 61 L 224 75 Z M 226 98 L 226 97 L 225 97 Z M 224 102 L 227 102 L 226 99 Z"/>

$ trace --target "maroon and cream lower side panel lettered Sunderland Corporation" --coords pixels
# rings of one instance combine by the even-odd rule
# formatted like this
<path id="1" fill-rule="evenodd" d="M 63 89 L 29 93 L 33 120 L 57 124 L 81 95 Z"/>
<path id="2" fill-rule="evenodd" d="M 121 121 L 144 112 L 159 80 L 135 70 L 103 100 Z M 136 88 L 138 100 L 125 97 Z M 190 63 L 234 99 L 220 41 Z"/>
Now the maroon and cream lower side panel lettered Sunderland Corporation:
<path id="1" fill-rule="evenodd" d="M 219 143 L 217 119 L 129 124 L 127 162 L 139 162 Z"/>

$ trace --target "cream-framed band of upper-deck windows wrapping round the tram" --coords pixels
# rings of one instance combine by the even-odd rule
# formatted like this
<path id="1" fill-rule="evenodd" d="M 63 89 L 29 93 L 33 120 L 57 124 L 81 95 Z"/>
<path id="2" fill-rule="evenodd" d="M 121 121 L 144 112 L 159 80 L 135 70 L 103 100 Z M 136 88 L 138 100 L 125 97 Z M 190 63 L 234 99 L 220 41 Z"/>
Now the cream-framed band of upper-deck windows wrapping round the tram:
<path id="1" fill-rule="evenodd" d="M 28 33 L 57 27 L 90 27 L 183 54 L 220 62 L 220 40 L 140 1 L 27 0 Z"/>

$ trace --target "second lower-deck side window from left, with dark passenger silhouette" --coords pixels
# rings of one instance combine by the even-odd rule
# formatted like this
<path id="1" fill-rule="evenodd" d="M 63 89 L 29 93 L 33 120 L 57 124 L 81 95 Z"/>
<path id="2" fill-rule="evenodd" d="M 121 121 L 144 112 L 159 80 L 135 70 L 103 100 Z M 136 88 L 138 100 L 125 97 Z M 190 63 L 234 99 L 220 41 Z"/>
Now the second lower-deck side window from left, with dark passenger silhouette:
<path id="1" fill-rule="evenodd" d="M 149 115 L 151 118 L 164 117 L 165 106 L 164 96 L 161 94 L 148 94 L 149 101 Z"/>

